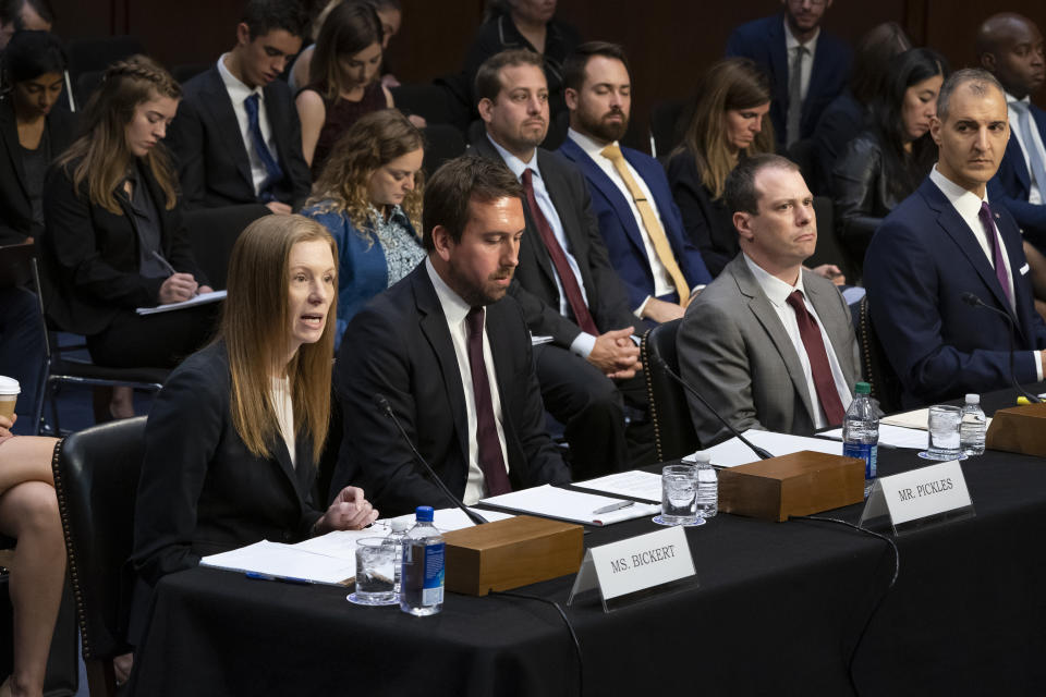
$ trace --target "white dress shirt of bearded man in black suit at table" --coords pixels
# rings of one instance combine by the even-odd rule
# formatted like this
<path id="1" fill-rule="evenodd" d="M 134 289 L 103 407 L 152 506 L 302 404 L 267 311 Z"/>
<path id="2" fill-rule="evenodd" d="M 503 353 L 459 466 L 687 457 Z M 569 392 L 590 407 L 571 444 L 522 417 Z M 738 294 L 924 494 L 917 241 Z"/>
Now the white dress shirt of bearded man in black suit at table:
<path id="1" fill-rule="evenodd" d="M 447 319 L 447 329 L 450 330 L 450 340 L 454 344 L 454 355 L 458 358 L 458 371 L 461 374 L 461 387 L 465 391 L 465 414 L 469 417 L 469 480 L 465 482 L 465 496 L 462 500 L 472 505 L 486 493 L 486 482 L 483 469 L 479 467 L 479 447 L 476 443 L 476 395 L 472 389 L 472 366 L 469 363 L 469 328 L 465 316 L 472 309 L 461 299 L 433 267 L 430 259 L 425 259 L 425 270 L 436 289 L 436 297 L 443 308 Z M 487 338 L 487 318 L 483 318 L 483 362 L 487 367 L 487 382 L 490 383 L 490 403 L 494 406 L 494 423 L 498 428 L 498 442 L 501 444 L 501 457 L 504 460 L 504 469 L 509 469 L 509 455 L 504 447 L 504 426 L 501 417 L 501 393 L 498 391 L 498 376 L 494 370 L 494 354 L 490 353 L 490 340 Z"/>

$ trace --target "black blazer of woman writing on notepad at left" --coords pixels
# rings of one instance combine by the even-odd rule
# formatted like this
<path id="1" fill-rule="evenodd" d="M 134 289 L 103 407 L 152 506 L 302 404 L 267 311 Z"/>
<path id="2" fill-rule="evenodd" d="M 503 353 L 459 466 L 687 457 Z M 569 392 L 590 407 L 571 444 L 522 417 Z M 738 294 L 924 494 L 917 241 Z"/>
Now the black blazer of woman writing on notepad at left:
<path id="1" fill-rule="evenodd" d="M 157 146 L 162 147 L 162 146 Z M 77 161 L 52 167 L 44 185 L 45 231 L 40 256 L 45 270 L 44 302 L 48 317 L 77 334 L 104 331 L 121 310 L 159 303 L 166 279 L 138 273 L 138 234 L 130 203 L 117 195 L 122 215 L 90 203 L 86 181 L 74 191 Z M 138 167 L 160 217 L 160 247 L 180 272 L 207 283 L 185 235 L 180 204 L 167 210 L 167 198 L 148 167 Z"/>

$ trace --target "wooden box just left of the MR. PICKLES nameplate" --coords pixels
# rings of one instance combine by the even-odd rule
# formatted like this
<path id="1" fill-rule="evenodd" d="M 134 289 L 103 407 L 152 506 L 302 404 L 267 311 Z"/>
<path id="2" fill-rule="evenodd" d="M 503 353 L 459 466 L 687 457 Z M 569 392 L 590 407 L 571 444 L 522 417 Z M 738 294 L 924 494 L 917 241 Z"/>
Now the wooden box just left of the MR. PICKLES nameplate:
<path id="1" fill-rule="evenodd" d="M 719 472 L 719 510 L 767 521 L 864 500 L 864 461 L 808 450 Z"/>

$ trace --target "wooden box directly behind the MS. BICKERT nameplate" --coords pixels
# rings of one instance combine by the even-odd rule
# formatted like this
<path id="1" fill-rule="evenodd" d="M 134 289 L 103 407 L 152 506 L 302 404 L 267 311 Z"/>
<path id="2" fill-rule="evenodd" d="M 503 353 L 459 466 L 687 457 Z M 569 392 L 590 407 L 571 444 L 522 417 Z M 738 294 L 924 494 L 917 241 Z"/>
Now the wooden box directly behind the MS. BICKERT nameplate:
<path id="1" fill-rule="evenodd" d="M 530 515 L 443 534 L 447 590 L 485 596 L 577 573 L 584 528 Z"/>

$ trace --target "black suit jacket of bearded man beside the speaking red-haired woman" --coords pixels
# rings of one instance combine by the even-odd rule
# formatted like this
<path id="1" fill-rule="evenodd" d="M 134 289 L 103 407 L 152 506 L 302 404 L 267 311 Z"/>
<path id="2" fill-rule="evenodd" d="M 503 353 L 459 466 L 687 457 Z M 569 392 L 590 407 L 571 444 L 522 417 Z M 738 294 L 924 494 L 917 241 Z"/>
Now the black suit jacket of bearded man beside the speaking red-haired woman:
<path id="1" fill-rule="evenodd" d="M 545 432 L 531 335 L 511 297 L 487 306 L 487 338 L 501 395 L 509 480 L 513 488 L 569 482 L 567 465 Z M 331 492 L 349 482 L 363 487 L 382 515 L 451 505 L 421 473 L 392 420 L 375 406 L 380 393 L 440 479 L 459 498 L 464 494 L 470 438 L 464 389 L 426 264 L 349 322 L 335 390 L 344 435 Z"/>

